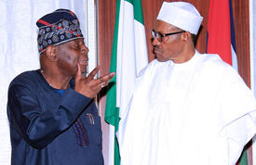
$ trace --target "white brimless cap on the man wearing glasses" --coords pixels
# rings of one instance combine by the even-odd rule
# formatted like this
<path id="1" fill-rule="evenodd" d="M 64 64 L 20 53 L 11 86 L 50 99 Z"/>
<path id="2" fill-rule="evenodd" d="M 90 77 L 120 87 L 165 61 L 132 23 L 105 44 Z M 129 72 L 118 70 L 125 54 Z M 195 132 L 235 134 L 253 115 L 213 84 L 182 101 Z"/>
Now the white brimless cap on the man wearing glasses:
<path id="1" fill-rule="evenodd" d="M 192 4 L 186 2 L 164 2 L 157 19 L 184 31 L 197 34 L 203 17 Z"/>

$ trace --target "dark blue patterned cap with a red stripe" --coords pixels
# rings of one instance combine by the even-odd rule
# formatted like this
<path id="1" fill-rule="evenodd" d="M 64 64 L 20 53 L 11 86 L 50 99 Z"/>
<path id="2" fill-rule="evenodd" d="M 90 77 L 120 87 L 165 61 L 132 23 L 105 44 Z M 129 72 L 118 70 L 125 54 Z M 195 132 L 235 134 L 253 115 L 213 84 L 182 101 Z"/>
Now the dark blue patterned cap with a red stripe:
<path id="1" fill-rule="evenodd" d="M 40 54 L 49 44 L 58 45 L 77 38 L 84 38 L 79 20 L 68 9 L 57 9 L 38 19 L 36 25 L 39 28 L 37 44 Z"/>

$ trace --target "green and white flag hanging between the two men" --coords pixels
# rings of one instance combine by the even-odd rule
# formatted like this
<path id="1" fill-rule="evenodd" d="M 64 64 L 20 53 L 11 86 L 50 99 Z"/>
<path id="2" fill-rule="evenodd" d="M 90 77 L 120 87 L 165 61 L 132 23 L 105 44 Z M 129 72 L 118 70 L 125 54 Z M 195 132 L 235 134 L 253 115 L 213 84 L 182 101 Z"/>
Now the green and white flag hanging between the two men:
<path id="1" fill-rule="evenodd" d="M 122 118 L 136 76 L 148 64 L 141 0 L 116 0 L 115 34 L 110 72 L 116 76 L 109 83 L 105 121 L 110 124 L 109 165 L 119 165 L 115 133 Z"/>

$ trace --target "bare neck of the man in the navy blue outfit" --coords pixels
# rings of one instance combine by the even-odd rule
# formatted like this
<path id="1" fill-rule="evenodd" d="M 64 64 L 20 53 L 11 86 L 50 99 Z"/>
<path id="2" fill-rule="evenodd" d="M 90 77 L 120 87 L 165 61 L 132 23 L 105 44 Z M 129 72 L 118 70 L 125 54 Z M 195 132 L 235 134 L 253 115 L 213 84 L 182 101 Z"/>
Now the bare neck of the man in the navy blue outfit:
<path id="1" fill-rule="evenodd" d="M 61 75 L 61 73 L 55 73 L 54 70 L 40 69 L 43 77 L 47 83 L 56 89 L 67 89 L 72 77 Z"/>

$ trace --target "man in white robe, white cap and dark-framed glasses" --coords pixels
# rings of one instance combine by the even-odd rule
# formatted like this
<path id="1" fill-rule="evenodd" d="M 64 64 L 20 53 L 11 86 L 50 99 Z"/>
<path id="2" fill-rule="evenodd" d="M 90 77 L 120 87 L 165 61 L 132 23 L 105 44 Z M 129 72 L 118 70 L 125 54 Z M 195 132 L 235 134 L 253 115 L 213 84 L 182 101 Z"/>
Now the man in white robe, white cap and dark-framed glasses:
<path id="1" fill-rule="evenodd" d="M 189 14 L 169 9 L 177 6 L 197 18 L 187 23 Z M 256 101 L 236 70 L 195 50 L 198 15 L 191 4 L 164 2 L 153 32 L 156 59 L 141 71 L 120 121 L 122 165 L 235 165 L 256 133 Z"/>

